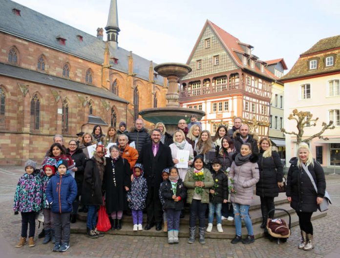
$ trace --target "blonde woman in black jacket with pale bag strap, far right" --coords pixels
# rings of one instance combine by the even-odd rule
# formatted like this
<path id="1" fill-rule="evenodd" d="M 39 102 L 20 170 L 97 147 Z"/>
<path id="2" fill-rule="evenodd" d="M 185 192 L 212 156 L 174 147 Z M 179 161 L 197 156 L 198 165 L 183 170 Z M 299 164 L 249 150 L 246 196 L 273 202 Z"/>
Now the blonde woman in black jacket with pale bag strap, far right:
<path id="1" fill-rule="evenodd" d="M 325 195 L 325 175 L 319 162 L 313 159 L 306 143 L 298 146 L 297 157 L 291 158 L 289 162 L 291 166 L 287 175 L 286 195 L 298 216 L 301 230 L 301 243 L 298 248 L 309 251 L 314 248 L 311 217 L 313 212 L 317 211 Z M 315 191 L 311 178 L 318 192 Z"/>

